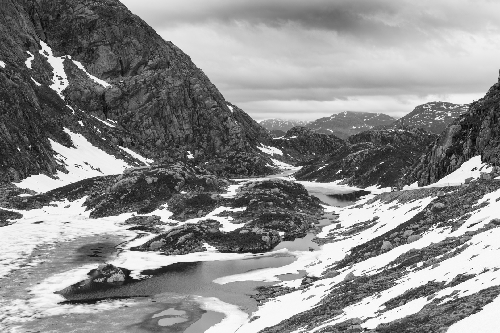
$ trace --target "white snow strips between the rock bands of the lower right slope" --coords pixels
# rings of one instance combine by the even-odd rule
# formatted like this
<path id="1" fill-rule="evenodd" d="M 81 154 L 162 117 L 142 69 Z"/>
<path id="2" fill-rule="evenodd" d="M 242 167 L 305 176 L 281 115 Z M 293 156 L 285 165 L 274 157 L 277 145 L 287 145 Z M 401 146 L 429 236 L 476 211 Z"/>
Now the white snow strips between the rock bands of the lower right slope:
<path id="1" fill-rule="evenodd" d="M 422 248 L 430 245 L 431 243 L 437 243 L 446 237 L 458 237 L 460 235 L 463 235 L 465 231 L 474 231 L 482 227 L 482 222 L 488 223 L 490 219 L 500 217 L 498 213 L 500 212 L 500 202 L 491 200 L 493 198 L 497 198 L 498 196 L 500 196 L 500 191 L 498 190 L 486 194 L 481 200 L 479 200 L 478 204 L 486 201 L 489 202 L 489 205 L 471 212 L 470 218 L 468 218 L 467 221 L 453 233 L 449 233 L 449 227 L 431 229 L 423 235 L 423 238 L 419 239 L 418 241 L 411 244 L 398 246 L 382 255 L 372 257 L 365 261 L 357 263 L 352 267 L 341 271 L 340 275 L 338 275 L 337 277 L 316 281 L 314 282 L 313 287 L 306 289 L 305 291 L 293 292 L 291 294 L 271 299 L 269 302 L 262 305 L 256 313 L 253 314 L 254 316 L 260 316 L 260 318 L 251 323 L 245 324 L 238 331 L 238 333 L 240 331 L 258 332 L 265 327 L 275 325 L 280 321 L 287 319 L 297 313 L 313 308 L 324 296 L 329 293 L 328 289 L 331 288 L 331 285 L 341 282 L 344 279 L 345 275 L 350 272 L 352 272 L 355 276 L 363 274 L 376 274 L 377 269 L 385 267 L 388 263 L 396 259 L 399 255 L 409 251 L 411 248 Z M 427 197 L 405 204 L 398 204 L 397 209 L 388 209 L 389 207 L 394 206 L 394 204 L 397 204 L 397 202 L 384 204 L 377 201 L 367 207 L 355 209 L 352 207 L 345 207 L 336 210 L 335 213 L 339 214 L 338 222 L 342 223 L 342 226 L 344 226 L 344 228 L 348 228 L 349 226 L 357 222 L 366 221 L 374 215 L 379 216 L 378 223 L 375 226 L 356 235 L 353 235 L 350 238 L 340 240 L 336 243 L 323 245 L 323 248 L 321 250 L 317 252 L 314 251 L 310 257 L 310 260 L 313 261 L 313 263 L 311 262 L 311 264 L 314 264 L 314 266 L 310 265 L 309 267 L 306 267 L 305 270 L 308 272 L 308 275 L 320 276 L 321 272 L 326 269 L 327 265 L 333 263 L 334 261 L 342 259 L 345 254 L 349 254 L 351 247 L 357 246 L 374 237 L 382 235 L 385 232 L 390 231 L 391 229 L 396 227 L 398 224 L 409 220 L 412 216 L 423 210 L 423 208 L 434 198 L 435 197 Z M 358 204 L 362 203 L 363 201 L 366 202 L 366 200 L 367 199 L 364 199 L 358 202 Z M 416 206 L 420 207 L 411 210 L 411 208 Z M 477 224 L 470 228 L 467 228 L 473 223 Z M 318 237 L 326 237 L 330 231 L 334 231 L 332 230 L 333 227 L 334 226 L 331 226 L 329 228 L 324 227 L 323 231 L 318 234 Z M 366 321 L 362 325 L 364 328 L 373 329 L 380 323 L 387 323 L 396 319 L 403 318 L 407 315 L 414 314 L 420 311 L 423 306 L 431 302 L 431 300 L 427 301 L 428 295 L 408 302 L 401 307 L 397 307 L 395 309 L 387 311 L 380 317 L 376 317 L 376 311 L 384 308 L 384 306 L 382 306 L 383 303 L 398 295 L 403 294 L 408 289 L 417 288 L 421 285 L 424 285 L 428 281 L 435 280 L 450 282 L 457 274 L 477 274 L 475 278 L 467 280 L 454 287 L 445 288 L 437 292 L 436 298 L 449 295 L 455 289 L 460 290 L 460 292 L 454 297 L 460 298 L 474 294 L 481 289 L 497 285 L 498 282 L 500 282 L 500 279 L 497 279 L 500 278 L 500 271 L 494 272 L 492 269 L 500 267 L 500 264 L 496 259 L 500 256 L 500 229 L 492 229 L 477 234 L 473 236 L 470 244 L 472 245 L 463 250 L 460 254 L 442 261 L 440 263 L 440 266 L 434 269 L 432 269 L 431 267 L 427 267 L 418 271 L 409 270 L 408 274 L 398 280 L 395 286 L 381 292 L 379 295 L 367 297 L 355 305 L 342 309 L 344 313 L 341 316 L 337 316 L 329 321 L 326 321 L 323 325 L 315 328 L 314 330 L 311 330 L 310 332 L 319 331 L 321 328 L 327 325 L 333 325 L 335 323 L 345 321 L 346 319 L 356 317 L 359 317 L 361 319 L 374 317 Z M 488 248 L 489 250 L 485 250 L 486 248 Z M 421 267 L 421 263 L 418 264 L 418 267 Z M 280 271 L 285 271 L 286 269 L 286 266 L 281 267 L 273 273 L 279 274 Z M 250 272 L 246 277 L 242 275 L 237 278 L 239 280 L 245 280 L 247 278 L 250 278 L 251 276 L 255 276 L 256 273 L 258 272 Z M 224 277 L 219 278 L 218 280 L 229 280 L 229 278 L 230 277 Z M 289 287 L 298 287 L 299 283 L 299 280 L 295 280 L 287 281 L 283 284 Z M 445 299 L 443 303 L 449 300 L 451 300 L 451 298 Z M 496 303 L 496 307 L 500 305 L 500 301 L 496 301 L 494 303 Z M 459 323 L 460 322 L 456 324 L 456 331 L 453 332 L 463 332 L 459 331 Z M 495 327 L 495 323 L 496 319 L 492 318 L 489 322 L 483 322 L 482 327 L 485 327 L 487 330 L 491 330 L 491 328 Z M 297 330 L 296 332 L 305 331 Z"/>

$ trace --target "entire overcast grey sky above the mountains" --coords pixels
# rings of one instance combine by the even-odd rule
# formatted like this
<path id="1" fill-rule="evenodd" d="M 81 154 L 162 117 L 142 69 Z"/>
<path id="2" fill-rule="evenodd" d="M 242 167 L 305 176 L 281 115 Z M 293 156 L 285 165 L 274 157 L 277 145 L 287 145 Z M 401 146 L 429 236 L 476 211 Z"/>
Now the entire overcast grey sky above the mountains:
<path id="1" fill-rule="evenodd" d="M 500 1 L 122 0 L 255 120 L 400 117 L 498 80 Z"/>

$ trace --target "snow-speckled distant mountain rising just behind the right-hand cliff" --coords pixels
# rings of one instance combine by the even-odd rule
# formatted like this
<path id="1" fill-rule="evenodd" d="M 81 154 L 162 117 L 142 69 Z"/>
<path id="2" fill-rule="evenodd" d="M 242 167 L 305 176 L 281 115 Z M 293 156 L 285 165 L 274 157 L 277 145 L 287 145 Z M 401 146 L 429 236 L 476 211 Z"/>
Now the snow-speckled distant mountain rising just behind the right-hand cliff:
<path id="1" fill-rule="evenodd" d="M 447 102 L 428 102 L 420 104 L 410 113 L 390 125 L 379 126 L 380 129 L 400 128 L 404 126 L 422 127 L 434 134 L 440 134 L 446 126 L 465 113 L 469 104 L 453 104 Z"/>

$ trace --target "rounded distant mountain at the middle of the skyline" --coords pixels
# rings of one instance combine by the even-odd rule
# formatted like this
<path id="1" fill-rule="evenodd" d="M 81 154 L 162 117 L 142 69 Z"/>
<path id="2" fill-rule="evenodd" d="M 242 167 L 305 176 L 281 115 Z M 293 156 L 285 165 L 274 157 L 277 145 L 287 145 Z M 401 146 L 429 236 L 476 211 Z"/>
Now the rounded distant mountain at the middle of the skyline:
<path id="1" fill-rule="evenodd" d="M 383 113 L 344 111 L 316 119 L 305 126 L 317 133 L 334 134 L 345 139 L 375 126 L 391 124 L 394 120 Z"/>

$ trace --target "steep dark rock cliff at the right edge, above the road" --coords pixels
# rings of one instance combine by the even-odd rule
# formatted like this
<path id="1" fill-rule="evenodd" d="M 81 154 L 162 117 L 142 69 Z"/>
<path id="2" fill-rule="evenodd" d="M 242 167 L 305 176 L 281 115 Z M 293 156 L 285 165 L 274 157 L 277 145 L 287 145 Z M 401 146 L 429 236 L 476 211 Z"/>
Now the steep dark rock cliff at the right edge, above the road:
<path id="1" fill-rule="evenodd" d="M 449 124 L 436 143 L 404 179 L 419 186 L 432 184 L 473 156 L 500 165 L 500 83 L 495 83 L 466 113 Z"/>

